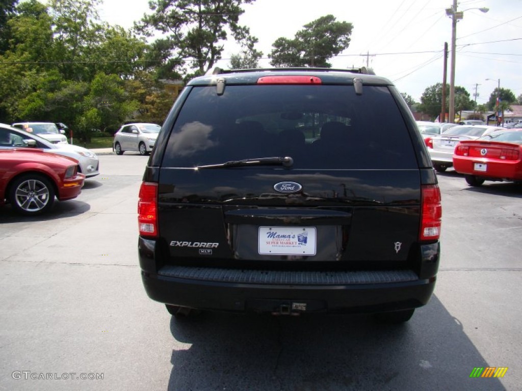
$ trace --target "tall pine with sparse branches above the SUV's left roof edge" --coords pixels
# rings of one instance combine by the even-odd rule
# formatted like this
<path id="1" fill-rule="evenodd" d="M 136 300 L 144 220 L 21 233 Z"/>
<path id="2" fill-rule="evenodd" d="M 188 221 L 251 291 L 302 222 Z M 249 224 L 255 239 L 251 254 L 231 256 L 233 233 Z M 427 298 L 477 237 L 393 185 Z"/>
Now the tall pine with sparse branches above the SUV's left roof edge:
<path id="1" fill-rule="evenodd" d="M 212 69 L 221 59 L 224 42 L 229 32 L 239 43 L 248 43 L 250 30 L 239 25 L 243 14 L 241 5 L 254 0 L 151 0 L 153 14 L 145 15 L 136 23 L 137 31 L 151 36 L 160 31 L 163 38 L 156 40 L 156 54 L 168 67 L 168 73 L 181 67 L 185 61 L 199 75 Z"/>

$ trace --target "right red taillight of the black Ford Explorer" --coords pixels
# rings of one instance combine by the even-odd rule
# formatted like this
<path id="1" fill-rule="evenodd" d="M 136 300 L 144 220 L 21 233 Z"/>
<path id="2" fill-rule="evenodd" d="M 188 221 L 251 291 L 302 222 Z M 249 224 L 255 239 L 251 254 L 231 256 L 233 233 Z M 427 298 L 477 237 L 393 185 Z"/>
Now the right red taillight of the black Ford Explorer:
<path id="1" fill-rule="evenodd" d="M 423 185 L 420 240 L 437 240 L 441 236 L 441 190 L 437 185 Z"/>

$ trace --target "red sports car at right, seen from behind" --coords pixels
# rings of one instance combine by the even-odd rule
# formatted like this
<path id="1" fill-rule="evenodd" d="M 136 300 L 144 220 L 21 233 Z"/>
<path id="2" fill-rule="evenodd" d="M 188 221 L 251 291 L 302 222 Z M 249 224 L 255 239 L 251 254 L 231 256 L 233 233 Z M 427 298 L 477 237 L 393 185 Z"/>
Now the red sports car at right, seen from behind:
<path id="1" fill-rule="evenodd" d="M 460 141 L 453 154 L 455 171 L 471 186 L 484 180 L 522 180 L 522 129 L 497 130 L 477 140 Z"/>

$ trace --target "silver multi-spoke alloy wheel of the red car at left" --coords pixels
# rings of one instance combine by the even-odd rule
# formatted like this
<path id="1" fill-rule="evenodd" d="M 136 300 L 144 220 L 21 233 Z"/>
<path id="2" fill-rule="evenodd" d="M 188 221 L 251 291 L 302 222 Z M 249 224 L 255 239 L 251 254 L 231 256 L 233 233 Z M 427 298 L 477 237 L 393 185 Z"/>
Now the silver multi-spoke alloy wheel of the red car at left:
<path id="1" fill-rule="evenodd" d="M 9 201 L 16 211 L 27 215 L 37 215 L 49 210 L 55 194 L 49 179 L 37 174 L 15 179 L 9 193 Z"/>

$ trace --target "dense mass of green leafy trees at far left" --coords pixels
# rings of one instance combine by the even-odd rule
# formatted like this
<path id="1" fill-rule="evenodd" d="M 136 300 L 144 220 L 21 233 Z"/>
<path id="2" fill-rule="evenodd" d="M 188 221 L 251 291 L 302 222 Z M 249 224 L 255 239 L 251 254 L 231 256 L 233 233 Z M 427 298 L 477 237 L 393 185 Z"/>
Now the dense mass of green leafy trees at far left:
<path id="1" fill-rule="evenodd" d="M 98 21 L 98 0 L 22 2 L 0 55 L 0 121 L 62 122 L 75 138 L 120 126 L 138 109 L 125 79 L 143 67 L 147 44 Z"/>

